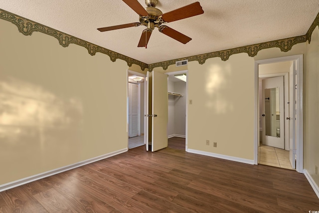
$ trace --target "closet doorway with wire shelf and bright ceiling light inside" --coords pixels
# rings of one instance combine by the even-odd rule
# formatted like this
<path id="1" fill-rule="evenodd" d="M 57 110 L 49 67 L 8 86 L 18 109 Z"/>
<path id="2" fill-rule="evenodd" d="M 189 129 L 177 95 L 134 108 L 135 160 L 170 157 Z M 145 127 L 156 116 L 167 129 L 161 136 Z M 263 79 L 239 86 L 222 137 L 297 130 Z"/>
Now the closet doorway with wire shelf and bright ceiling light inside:
<path id="1" fill-rule="evenodd" d="M 187 70 L 167 72 L 167 138 L 187 152 Z"/>

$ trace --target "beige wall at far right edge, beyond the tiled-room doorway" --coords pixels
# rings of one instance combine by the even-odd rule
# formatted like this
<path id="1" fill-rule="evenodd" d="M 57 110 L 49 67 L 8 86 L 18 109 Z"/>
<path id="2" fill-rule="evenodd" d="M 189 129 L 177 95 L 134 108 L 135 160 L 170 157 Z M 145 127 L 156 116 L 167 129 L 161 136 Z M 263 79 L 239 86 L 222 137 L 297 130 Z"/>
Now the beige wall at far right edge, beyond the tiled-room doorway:
<path id="1" fill-rule="evenodd" d="M 319 186 L 319 174 L 315 173 L 315 166 L 319 167 L 319 29 L 313 32 L 311 43 L 306 44 L 307 70 L 304 75 L 304 155 L 305 169 Z"/>

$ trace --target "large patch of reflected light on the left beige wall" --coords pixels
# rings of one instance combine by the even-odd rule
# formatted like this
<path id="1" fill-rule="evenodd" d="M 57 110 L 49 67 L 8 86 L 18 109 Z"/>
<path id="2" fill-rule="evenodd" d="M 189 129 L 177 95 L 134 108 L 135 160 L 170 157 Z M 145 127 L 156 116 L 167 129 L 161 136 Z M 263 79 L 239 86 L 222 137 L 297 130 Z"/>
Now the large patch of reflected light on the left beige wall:
<path id="1" fill-rule="evenodd" d="M 0 80 L 0 141 L 2 149 L 23 149 L 39 142 L 41 149 L 67 140 L 83 125 L 80 100 L 63 100 L 40 86 L 14 78 Z M 3 151 L 3 150 L 2 150 Z"/>

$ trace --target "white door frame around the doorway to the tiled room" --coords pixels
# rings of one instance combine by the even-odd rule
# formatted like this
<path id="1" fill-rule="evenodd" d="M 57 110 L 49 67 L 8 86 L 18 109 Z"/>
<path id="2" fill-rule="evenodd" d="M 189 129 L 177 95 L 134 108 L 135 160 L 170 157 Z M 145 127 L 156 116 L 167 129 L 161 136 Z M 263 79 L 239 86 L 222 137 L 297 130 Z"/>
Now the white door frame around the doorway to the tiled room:
<path id="1" fill-rule="evenodd" d="M 291 55 L 255 61 L 255 121 L 254 121 L 254 164 L 258 164 L 259 141 L 259 64 L 284 61 L 297 62 L 297 163 L 296 171 L 304 173 L 304 55 Z M 295 77 L 295 75 L 294 75 Z"/>

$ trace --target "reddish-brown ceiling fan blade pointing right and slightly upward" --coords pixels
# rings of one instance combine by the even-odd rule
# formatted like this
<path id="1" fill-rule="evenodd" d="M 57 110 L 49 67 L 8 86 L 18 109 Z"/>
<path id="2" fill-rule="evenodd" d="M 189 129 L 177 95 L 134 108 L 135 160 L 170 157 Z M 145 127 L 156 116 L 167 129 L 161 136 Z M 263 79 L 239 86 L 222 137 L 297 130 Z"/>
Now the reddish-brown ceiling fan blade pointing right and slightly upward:
<path id="1" fill-rule="evenodd" d="M 204 13 L 204 10 L 202 9 L 201 5 L 198 1 L 191 3 L 189 5 L 180 7 L 178 9 L 172 10 L 170 12 L 166 12 L 162 14 L 162 19 L 165 22 L 171 22 L 180 20 L 183 18 L 188 18 L 191 16 L 199 15 Z"/>

